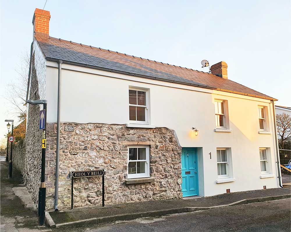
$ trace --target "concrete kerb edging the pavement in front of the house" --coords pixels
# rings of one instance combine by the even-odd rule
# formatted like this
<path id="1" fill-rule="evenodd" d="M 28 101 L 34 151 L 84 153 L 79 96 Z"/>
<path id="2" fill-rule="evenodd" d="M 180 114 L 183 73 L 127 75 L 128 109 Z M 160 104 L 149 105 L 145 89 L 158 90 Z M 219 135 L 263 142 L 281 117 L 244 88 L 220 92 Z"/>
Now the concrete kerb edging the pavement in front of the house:
<path id="1" fill-rule="evenodd" d="M 284 198 L 289 198 L 289 197 L 291 197 L 291 194 L 243 199 L 243 200 L 233 202 L 227 205 L 218 205 L 218 206 L 210 206 L 210 207 L 182 207 L 182 208 L 166 209 L 166 210 L 159 210 L 159 211 L 148 211 L 148 212 L 141 212 L 141 213 L 127 213 L 127 214 L 120 214 L 120 215 L 114 215 L 114 216 L 106 216 L 106 217 L 101 217 L 101 218 L 90 218 L 90 219 L 79 220 L 79 221 L 74 221 L 74 222 L 66 222 L 66 223 L 56 224 L 55 226 L 59 228 L 59 227 L 67 227 L 67 226 L 84 226 L 84 225 L 89 225 L 89 224 L 101 224 L 101 223 L 114 222 L 114 221 L 133 220 L 136 218 L 146 218 L 146 217 L 163 216 L 163 215 L 175 214 L 175 213 L 186 213 L 186 212 L 193 212 L 193 211 L 198 211 L 198 210 L 215 209 L 215 208 L 233 206 L 233 205 L 239 205 L 239 204 L 279 200 L 279 199 L 284 199 Z"/>

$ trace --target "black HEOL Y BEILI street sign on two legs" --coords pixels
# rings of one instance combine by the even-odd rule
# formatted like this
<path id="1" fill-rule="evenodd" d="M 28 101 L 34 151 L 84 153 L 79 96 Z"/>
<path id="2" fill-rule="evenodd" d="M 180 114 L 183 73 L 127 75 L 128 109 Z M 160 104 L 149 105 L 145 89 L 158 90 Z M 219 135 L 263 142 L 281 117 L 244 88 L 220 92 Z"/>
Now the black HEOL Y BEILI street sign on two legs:
<path id="1" fill-rule="evenodd" d="M 89 171 L 76 171 L 72 172 L 72 183 L 71 183 L 71 209 L 73 209 L 73 189 L 74 189 L 74 178 L 80 177 L 93 177 L 102 176 L 102 206 L 104 207 L 104 170 L 89 170 Z"/>

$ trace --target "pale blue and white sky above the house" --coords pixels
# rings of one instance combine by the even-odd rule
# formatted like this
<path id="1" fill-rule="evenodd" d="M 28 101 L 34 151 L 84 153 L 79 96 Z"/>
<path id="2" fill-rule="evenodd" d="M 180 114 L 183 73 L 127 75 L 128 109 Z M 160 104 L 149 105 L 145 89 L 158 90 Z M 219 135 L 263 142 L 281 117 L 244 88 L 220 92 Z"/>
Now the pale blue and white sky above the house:
<path id="1" fill-rule="evenodd" d="M 0 1 L 0 139 L 7 133 L 3 98 L 20 56 L 30 51 L 35 8 L 45 0 Z M 208 71 L 228 64 L 228 79 L 291 106 L 291 1 L 47 0 L 49 35 L 77 43 Z M 16 122 L 17 125 L 19 122 Z"/>

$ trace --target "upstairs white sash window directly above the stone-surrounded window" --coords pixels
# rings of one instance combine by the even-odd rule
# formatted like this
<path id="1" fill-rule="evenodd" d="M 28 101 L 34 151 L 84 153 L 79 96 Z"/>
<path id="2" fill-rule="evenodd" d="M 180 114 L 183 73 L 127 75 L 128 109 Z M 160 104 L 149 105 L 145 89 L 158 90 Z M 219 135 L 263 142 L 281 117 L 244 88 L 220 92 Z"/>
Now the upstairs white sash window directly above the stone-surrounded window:
<path id="1" fill-rule="evenodd" d="M 129 120 L 148 123 L 148 90 L 129 88 Z"/>

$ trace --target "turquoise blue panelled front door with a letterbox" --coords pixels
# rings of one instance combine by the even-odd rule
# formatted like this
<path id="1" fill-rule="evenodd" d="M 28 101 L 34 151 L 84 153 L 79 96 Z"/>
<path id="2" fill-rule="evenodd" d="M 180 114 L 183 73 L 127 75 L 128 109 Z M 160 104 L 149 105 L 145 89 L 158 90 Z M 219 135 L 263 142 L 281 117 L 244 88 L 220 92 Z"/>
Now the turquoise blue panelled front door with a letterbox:
<path id="1" fill-rule="evenodd" d="M 197 149 L 182 148 L 182 193 L 183 197 L 198 195 Z"/>

